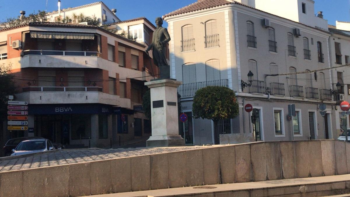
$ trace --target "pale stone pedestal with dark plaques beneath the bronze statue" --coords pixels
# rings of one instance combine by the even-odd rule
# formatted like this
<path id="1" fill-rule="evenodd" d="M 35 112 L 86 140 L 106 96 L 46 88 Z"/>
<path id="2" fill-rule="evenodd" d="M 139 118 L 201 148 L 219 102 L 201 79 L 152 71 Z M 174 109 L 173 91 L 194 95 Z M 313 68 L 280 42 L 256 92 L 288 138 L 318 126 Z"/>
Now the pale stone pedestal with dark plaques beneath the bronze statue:
<path id="1" fill-rule="evenodd" d="M 182 84 L 175 80 L 155 80 L 146 82 L 151 89 L 152 136 L 146 141 L 147 147 L 185 145 L 179 135 L 177 113 L 177 87 Z"/>

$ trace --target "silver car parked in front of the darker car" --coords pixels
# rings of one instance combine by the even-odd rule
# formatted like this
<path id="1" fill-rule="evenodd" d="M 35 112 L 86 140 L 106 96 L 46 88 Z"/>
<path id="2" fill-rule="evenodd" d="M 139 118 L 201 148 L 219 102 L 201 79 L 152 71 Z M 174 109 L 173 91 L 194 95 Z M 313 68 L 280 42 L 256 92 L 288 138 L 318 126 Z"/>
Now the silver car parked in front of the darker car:
<path id="1" fill-rule="evenodd" d="M 25 155 L 35 152 L 43 152 L 55 150 L 54 145 L 48 139 L 29 139 L 23 140 L 21 143 L 17 145 L 15 149 L 12 149 L 13 155 Z"/>

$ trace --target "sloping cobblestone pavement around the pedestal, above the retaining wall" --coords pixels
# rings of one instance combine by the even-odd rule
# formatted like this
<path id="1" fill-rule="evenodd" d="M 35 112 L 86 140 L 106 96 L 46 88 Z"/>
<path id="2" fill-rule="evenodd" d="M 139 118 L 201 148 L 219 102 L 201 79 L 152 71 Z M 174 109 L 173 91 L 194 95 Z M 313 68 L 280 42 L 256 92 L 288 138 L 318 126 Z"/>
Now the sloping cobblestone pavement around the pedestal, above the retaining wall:
<path id="1" fill-rule="evenodd" d="M 58 150 L 44 154 L 28 155 L 20 158 L 3 158 L 0 161 L 0 172 L 49 167 L 55 165 L 74 164 L 103 159 L 114 159 L 138 155 L 193 150 L 208 147 L 162 147 L 162 148 L 127 148 L 99 150 Z"/>

